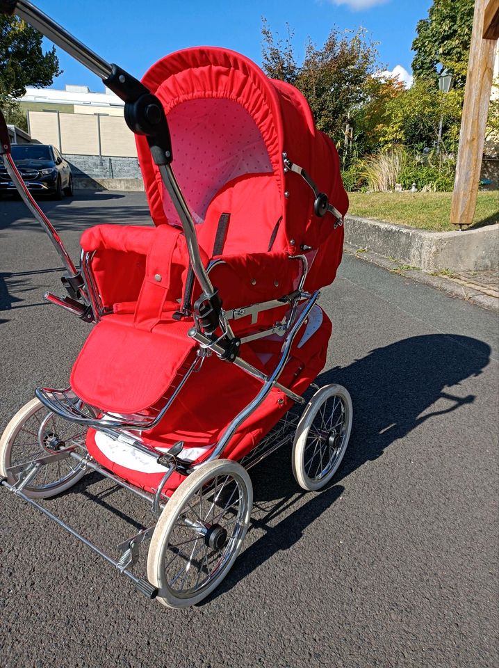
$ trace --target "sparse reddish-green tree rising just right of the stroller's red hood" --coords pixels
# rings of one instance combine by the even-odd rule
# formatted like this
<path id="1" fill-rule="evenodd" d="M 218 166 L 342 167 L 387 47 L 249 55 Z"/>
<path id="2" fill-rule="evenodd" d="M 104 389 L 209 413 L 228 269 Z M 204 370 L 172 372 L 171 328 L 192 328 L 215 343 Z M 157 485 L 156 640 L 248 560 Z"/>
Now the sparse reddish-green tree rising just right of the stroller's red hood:
<path id="1" fill-rule="evenodd" d="M 298 65 L 289 26 L 283 42 L 272 35 L 263 19 L 262 35 L 263 70 L 299 88 L 318 129 L 340 142 L 354 109 L 366 100 L 366 81 L 379 70 L 375 42 L 362 28 L 356 32 L 332 29 L 322 47 L 309 42 L 304 61 Z"/>

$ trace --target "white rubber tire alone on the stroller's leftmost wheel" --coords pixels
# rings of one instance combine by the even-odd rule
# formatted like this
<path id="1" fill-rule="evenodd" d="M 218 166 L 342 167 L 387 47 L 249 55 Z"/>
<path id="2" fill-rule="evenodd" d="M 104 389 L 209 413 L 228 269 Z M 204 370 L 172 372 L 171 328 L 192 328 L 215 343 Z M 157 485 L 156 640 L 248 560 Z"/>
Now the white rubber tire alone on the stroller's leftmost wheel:
<path id="1" fill-rule="evenodd" d="M 42 408 L 44 408 L 44 406 L 39 399 L 36 397 L 31 399 L 31 401 L 28 401 L 27 404 L 25 404 L 22 408 L 19 409 L 19 411 L 17 411 L 12 420 L 10 420 L 8 423 L 7 427 L 4 429 L 3 434 L 0 436 L 0 477 L 7 478 L 7 482 L 9 484 L 13 484 L 15 482 L 15 480 L 8 476 L 7 473 L 7 469 L 12 466 L 10 457 L 15 439 L 24 424 L 26 424 L 27 420 L 29 420 L 30 417 L 35 415 L 35 413 L 40 411 Z M 45 408 L 45 411 L 47 411 L 47 408 Z M 26 486 L 23 489 L 23 493 L 32 499 L 48 499 L 51 496 L 60 494 L 61 492 L 64 492 L 72 487 L 74 484 L 76 484 L 76 482 L 79 481 L 79 479 L 81 479 L 81 477 L 83 477 L 83 475 L 85 475 L 84 469 L 77 470 L 74 472 L 74 475 L 69 477 L 60 485 L 52 486 L 46 489 Z"/>

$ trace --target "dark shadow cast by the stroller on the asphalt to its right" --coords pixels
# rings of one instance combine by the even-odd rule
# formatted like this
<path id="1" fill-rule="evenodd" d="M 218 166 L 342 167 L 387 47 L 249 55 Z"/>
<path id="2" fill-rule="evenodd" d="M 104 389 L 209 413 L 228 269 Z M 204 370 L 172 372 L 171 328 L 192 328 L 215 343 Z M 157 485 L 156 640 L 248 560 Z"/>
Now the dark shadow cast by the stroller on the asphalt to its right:
<path id="1" fill-rule="evenodd" d="M 318 376 L 318 385 L 339 383 L 352 395 L 352 436 L 341 467 L 327 488 L 306 493 L 310 500 L 287 514 L 305 494 L 293 478 L 289 448 L 256 466 L 252 470 L 254 507 L 264 509 L 265 515 L 252 518 L 250 531 L 258 528 L 265 534 L 243 552 L 220 587 L 200 605 L 224 594 L 275 552 L 299 541 L 306 527 L 341 496 L 345 487 L 338 483 L 350 473 L 378 459 L 387 447 L 426 420 L 473 403 L 474 395 L 459 396 L 445 388 L 481 374 L 490 353 L 487 344 L 471 337 L 415 336 L 377 348 L 347 367 L 335 367 Z M 445 407 L 433 409 L 439 399 L 445 400 Z M 279 521 L 284 512 L 287 516 Z"/>

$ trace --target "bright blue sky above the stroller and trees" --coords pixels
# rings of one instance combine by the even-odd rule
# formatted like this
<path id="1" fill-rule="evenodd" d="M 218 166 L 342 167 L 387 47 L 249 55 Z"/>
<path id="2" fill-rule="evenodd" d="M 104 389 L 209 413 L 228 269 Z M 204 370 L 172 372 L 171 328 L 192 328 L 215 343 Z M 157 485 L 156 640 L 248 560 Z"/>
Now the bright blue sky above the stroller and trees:
<path id="1" fill-rule="evenodd" d="M 310 36 L 322 44 L 332 26 L 362 25 L 380 42 L 382 65 L 411 71 L 411 42 L 416 23 L 427 16 L 431 0 L 35 0 L 42 11 L 100 56 L 141 77 L 158 58 L 184 47 L 216 45 L 240 51 L 261 64 L 261 17 L 272 31 L 295 29 L 298 58 Z M 64 73 L 55 88 L 84 84 L 103 90 L 101 81 L 59 51 Z"/>

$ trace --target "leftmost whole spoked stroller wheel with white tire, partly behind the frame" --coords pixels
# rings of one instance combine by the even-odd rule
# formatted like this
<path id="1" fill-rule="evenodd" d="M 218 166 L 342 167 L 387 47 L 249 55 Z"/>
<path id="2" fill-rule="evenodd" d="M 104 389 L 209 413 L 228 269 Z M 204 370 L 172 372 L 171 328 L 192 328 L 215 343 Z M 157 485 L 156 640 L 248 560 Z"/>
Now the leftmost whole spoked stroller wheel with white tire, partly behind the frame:
<path id="1" fill-rule="evenodd" d="M 84 443 L 85 433 L 81 424 L 67 422 L 47 411 L 38 399 L 31 399 L 10 420 L 0 438 L 0 477 L 15 483 L 17 476 L 8 468 L 24 463 L 28 466 L 40 456 Z M 46 499 L 65 491 L 84 474 L 81 464 L 68 456 L 40 466 L 23 492 L 33 499 Z"/>

